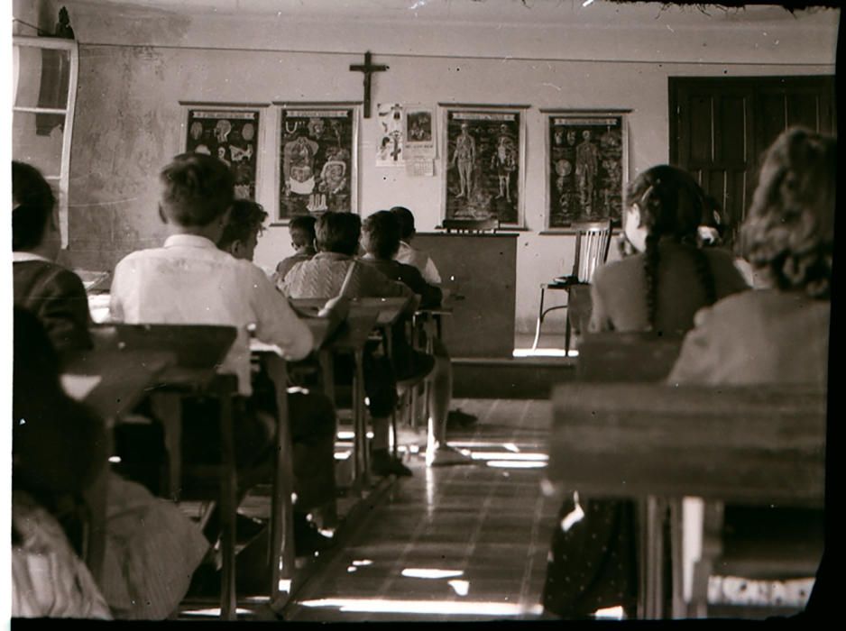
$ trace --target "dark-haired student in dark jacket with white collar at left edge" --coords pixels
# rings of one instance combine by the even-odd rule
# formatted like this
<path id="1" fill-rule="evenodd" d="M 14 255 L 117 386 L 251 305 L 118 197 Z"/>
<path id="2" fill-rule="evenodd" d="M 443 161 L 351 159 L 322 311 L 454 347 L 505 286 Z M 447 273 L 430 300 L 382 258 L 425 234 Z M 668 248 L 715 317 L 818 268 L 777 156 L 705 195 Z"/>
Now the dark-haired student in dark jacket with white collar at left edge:
<path id="1" fill-rule="evenodd" d="M 31 310 L 47 329 L 62 361 L 91 348 L 90 315 L 82 280 L 60 266 L 56 198 L 38 169 L 12 162 L 14 304 Z"/>

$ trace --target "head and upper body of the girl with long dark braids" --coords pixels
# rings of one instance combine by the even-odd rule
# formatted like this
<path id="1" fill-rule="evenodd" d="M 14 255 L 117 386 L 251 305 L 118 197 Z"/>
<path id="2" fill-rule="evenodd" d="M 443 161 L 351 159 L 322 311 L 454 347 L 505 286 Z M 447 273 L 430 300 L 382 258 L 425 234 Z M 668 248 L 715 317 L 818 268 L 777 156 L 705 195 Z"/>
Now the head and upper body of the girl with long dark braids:
<path id="1" fill-rule="evenodd" d="M 704 194 L 690 174 L 652 167 L 626 198 L 623 229 L 636 253 L 596 270 L 592 331 L 684 334 L 697 310 L 749 287 L 731 252 L 699 247 Z"/>

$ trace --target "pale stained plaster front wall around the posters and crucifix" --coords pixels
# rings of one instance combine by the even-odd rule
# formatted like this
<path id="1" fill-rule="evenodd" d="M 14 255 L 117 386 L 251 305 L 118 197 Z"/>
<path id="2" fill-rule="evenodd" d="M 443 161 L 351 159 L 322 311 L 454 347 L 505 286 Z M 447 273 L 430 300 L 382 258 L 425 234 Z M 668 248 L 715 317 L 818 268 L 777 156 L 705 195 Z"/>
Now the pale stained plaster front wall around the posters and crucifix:
<path id="1" fill-rule="evenodd" d="M 677 9 L 674 18 L 651 4 L 644 5 L 650 10 L 641 7 L 639 22 L 633 22 L 632 7 L 621 5 L 604 22 L 573 26 L 501 18 L 473 23 L 472 15 L 462 14 L 461 20 L 433 28 L 409 19 L 341 24 L 332 14 L 298 22 L 290 14 L 282 19 L 150 9 L 110 13 L 98 4 L 63 4 L 80 42 L 70 264 L 107 270 L 129 251 L 161 242 L 155 174 L 182 150 L 180 100 L 361 101 L 362 75 L 348 67 L 361 63 L 369 49 L 374 62 L 391 67 L 373 79 L 374 113 L 376 103 L 393 101 L 530 105 L 526 230 L 517 261 L 516 322 L 524 332 L 534 328 L 538 284 L 568 272 L 573 257 L 571 235 L 541 234 L 546 192 L 540 108 L 630 109 L 633 177 L 668 159 L 668 77 L 833 74 L 838 20 L 837 11 L 823 11 L 787 19 L 762 14 L 754 23 L 718 16 L 712 23 Z M 257 197 L 272 213 L 276 109 L 269 106 L 262 117 L 268 151 L 259 162 Z M 376 124 L 375 116 L 360 120 L 359 212 L 409 206 L 418 230 L 432 231 L 442 216 L 439 160 L 432 178 L 376 168 Z M 289 253 L 287 228 L 271 226 L 256 262 L 272 267 Z M 563 317 L 552 316 L 545 331 L 563 330 L 563 323 Z"/>

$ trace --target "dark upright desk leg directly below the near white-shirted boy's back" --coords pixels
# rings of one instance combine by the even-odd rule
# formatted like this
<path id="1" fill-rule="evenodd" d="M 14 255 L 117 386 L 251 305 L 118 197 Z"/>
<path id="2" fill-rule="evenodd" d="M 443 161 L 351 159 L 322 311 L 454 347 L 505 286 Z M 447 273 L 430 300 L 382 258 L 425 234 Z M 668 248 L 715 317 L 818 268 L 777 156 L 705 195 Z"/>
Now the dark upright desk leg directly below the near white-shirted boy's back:
<path id="1" fill-rule="evenodd" d="M 220 574 L 220 617 L 235 619 L 235 510 L 237 509 L 237 480 L 234 462 L 234 432 L 232 423 L 232 392 L 220 397 L 220 430 L 223 466 L 220 475 L 220 551 L 223 571 Z"/>

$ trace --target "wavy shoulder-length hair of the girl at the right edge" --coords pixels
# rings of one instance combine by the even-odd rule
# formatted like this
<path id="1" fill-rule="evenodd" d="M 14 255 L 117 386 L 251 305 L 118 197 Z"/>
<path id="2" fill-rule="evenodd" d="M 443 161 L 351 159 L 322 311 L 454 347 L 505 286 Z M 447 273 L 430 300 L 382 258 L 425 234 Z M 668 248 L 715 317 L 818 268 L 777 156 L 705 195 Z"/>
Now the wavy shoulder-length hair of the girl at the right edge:
<path id="1" fill-rule="evenodd" d="M 769 147 L 740 250 L 773 287 L 831 295 L 837 141 L 793 127 Z"/>

